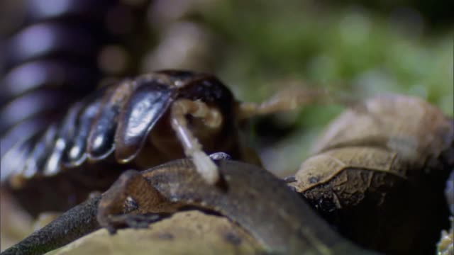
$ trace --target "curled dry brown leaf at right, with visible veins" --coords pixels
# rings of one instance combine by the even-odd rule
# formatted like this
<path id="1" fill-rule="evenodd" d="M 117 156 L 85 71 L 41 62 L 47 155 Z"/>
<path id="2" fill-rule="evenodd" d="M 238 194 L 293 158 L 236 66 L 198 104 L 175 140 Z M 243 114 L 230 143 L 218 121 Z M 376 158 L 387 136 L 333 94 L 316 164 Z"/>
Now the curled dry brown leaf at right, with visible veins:
<path id="1" fill-rule="evenodd" d="M 453 141 L 454 122 L 438 108 L 377 96 L 334 120 L 289 183 L 358 244 L 427 254 L 447 225 Z"/>

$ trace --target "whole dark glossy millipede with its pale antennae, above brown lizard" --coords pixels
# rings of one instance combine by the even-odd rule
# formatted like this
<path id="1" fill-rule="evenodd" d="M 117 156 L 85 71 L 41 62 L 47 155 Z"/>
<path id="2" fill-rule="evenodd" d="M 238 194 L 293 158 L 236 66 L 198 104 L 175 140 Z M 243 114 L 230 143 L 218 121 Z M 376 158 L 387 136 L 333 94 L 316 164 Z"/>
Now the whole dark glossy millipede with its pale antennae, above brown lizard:
<path id="1" fill-rule="evenodd" d="M 2 186 L 33 215 L 67 210 L 131 166 L 184 156 L 215 183 L 218 172 L 206 152 L 259 162 L 240 145 L 240 120 L 320 95 L 291 90 L 267 103 L 238 103 L 211 75 L 166 71 L 112 83 L 78 101 L 101 77 L 96 54 L 115 39 L 102 21 L 116 1 L 67 0 L 50 11 L 49 0 L 29 3 L 31 25 L 9 42 L 0 132 Z"/>

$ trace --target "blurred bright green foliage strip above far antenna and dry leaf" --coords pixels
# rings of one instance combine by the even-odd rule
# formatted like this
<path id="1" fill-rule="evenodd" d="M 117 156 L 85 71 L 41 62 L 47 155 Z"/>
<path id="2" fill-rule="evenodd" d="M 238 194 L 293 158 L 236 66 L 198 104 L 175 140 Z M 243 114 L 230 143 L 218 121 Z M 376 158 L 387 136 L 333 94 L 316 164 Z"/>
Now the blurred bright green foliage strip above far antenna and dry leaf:
<path id="1" fill-rule="evenodd" d="M 248 100 L 301 79 L 358 97 L 421 96 L 453 115 L 453 29 L 307 1 L 218 1 L 204 19 L 227 45 L 218 74 Z"/>

